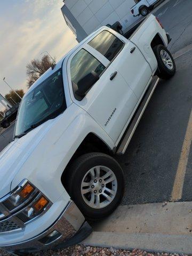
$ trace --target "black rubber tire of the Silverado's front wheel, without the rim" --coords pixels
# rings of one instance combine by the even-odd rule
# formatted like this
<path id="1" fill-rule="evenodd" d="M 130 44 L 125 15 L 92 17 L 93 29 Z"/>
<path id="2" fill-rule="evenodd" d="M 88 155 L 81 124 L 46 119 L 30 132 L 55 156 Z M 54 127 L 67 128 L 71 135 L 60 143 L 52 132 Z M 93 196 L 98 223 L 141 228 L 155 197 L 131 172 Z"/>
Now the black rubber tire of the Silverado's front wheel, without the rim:
<path id="1" fill-rule="evenodd" d="M 95 209 L 85 203 L 81 193 L 81 185 L 87 171 L 99 165 L 106 166 L 113 171 L 117 180 L 117 190 L 113 201 L 111 201 L 106 207 Z M 73 164 L 71 164 L 68 173 L 68 193 L 86 219 L 92 221 L 102 219 L 113 212 L 119 205 L 119 202 L 121 202 L 124 193 L 124 173 L 121 166 L 113 157 L 102 153 L 89 153 L 82 155 L 77 158 Z M 103 190 L 105 190 L 105 188 L 103 188 Z"/>

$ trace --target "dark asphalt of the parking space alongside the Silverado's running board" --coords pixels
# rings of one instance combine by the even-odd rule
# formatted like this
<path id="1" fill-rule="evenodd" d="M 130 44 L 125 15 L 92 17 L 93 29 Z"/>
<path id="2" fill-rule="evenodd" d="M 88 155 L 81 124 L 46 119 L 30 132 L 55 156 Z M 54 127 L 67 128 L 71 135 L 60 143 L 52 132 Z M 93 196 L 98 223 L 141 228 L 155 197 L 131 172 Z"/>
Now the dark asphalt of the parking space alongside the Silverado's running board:
<path id="1" fill-rule="evenodd" d="M 169 201 L 191 111 L 192 52 L 177 59 L 177 74 L 159 82 L 126 153 L 122 204 Z M 182 199 L 191 201 L 191 156 Z"/>

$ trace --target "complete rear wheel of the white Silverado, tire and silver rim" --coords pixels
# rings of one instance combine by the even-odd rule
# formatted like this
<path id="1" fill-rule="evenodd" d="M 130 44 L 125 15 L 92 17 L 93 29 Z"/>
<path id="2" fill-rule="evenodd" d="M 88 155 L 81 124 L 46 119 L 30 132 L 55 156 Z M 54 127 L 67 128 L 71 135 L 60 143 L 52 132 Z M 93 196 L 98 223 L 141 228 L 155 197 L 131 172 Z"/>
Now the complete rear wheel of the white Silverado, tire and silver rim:
<path id="1" fill-rule="evenodd" d="M 164 45 L 157 45 L 153 50 L 158 63 L 157 76 L 162 79 L 174 76 L 176 66 L 170 51 Z"/>

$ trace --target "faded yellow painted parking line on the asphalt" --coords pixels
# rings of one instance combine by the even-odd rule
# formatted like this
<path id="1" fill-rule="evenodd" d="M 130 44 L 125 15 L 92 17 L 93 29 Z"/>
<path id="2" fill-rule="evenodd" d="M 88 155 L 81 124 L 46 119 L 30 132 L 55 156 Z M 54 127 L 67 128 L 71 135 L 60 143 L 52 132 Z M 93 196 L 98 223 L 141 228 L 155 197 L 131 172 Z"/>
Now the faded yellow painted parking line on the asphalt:
<path id="1" fill-rule="evenodd" d="M 183 141 L 178 169 L 174 180 L 171 201 L 178 201 L 182 197 L 183 184 L 185 180 L 187 162 L 189 157 L 190 145 L 192 140 L 192 110 L 187 125 L 185 139 Z"/>

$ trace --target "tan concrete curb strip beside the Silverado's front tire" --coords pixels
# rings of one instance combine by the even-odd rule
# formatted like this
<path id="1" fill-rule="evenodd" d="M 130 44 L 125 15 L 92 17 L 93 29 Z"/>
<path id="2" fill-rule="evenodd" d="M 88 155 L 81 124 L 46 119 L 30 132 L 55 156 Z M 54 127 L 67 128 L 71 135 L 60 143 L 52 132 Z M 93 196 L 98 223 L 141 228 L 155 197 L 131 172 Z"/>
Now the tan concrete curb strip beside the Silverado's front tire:
<path id="1" fill-rule="evenodd" d="M 85 245 L 192 253 L 192 202 L 121 205 L 92 226 Z"/>

